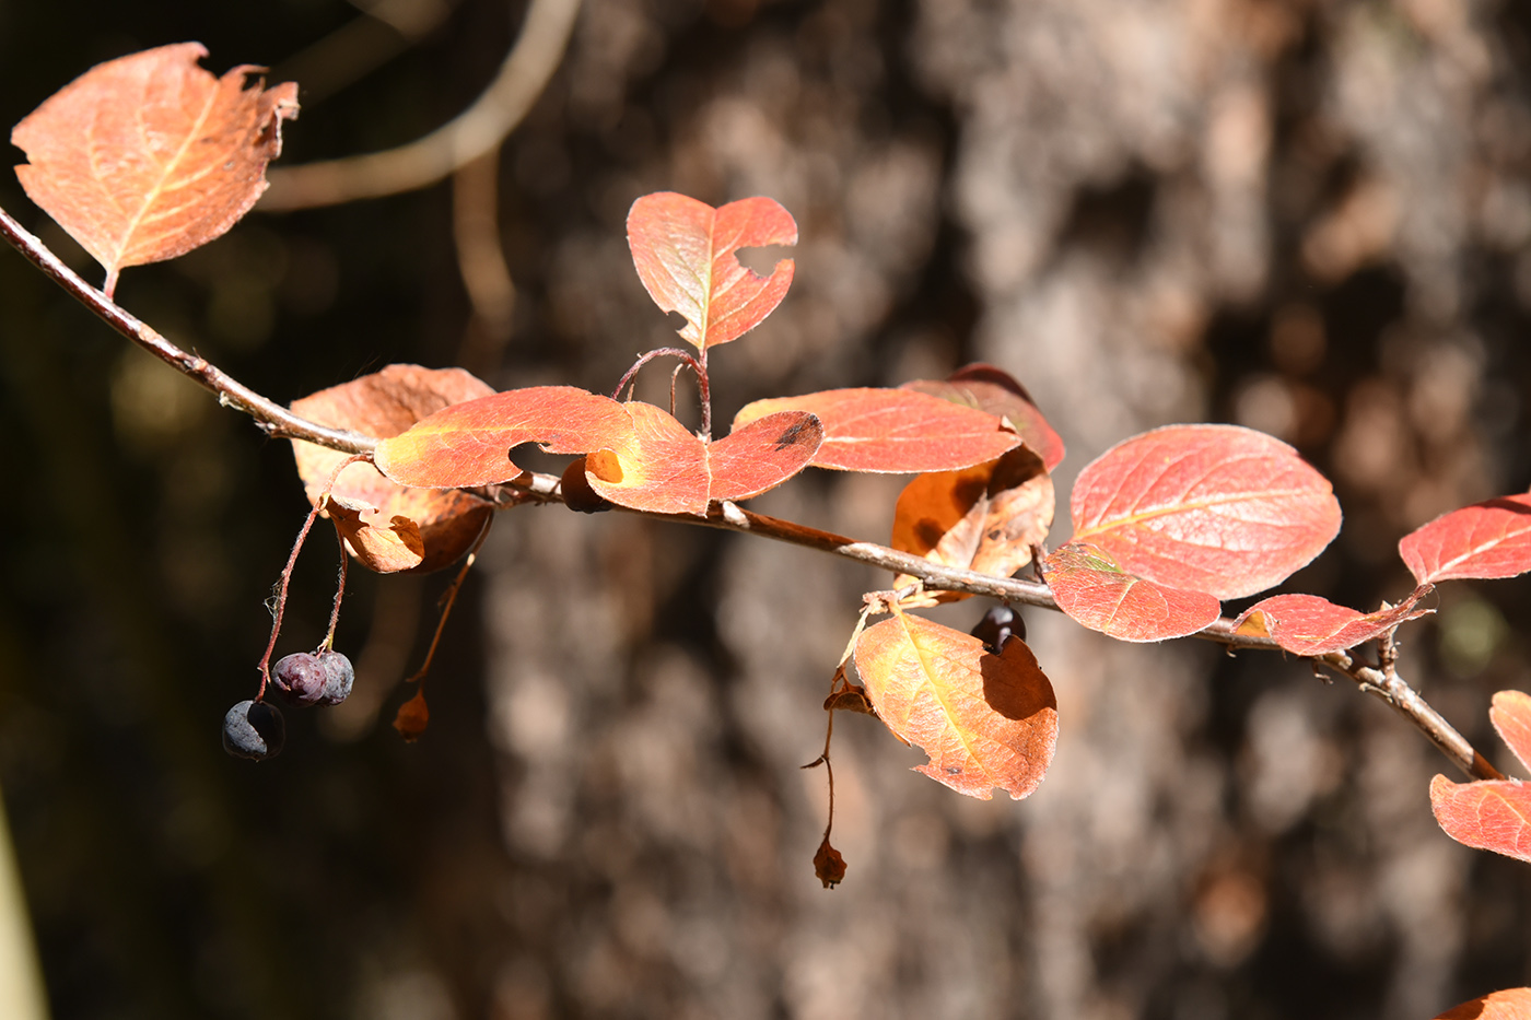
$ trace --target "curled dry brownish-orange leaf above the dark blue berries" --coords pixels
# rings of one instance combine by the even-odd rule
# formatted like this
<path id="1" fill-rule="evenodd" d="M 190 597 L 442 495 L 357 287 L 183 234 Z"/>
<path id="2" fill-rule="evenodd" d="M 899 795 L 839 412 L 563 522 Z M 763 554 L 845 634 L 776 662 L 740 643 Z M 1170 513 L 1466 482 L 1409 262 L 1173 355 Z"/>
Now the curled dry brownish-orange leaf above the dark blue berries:
<path id="1" fill-rule="evenodd" d="M 490 392 L 488 383 L 462 369 L 390 365 L 381 372 L 295 400 L 292 410 L 335 429 L 386 438 L 404 432 L 441 407 Z M 346 455 L 302 440 L 294 440 L 292 455 L 308 499 L 317 505 L 331 472 Z M 389 522 L 397 516 L 413 521 L 423 542 L 423 559 L 413 570 L 423 573 L 439 570 L 467 553 L 493 515 L 493 507 L 478 496 L 400 485 L 366 463 L 351 464 L 340 472 L 332 495 L 341 504 L 371 507 L 375 513 L 366 519 L 367 524 Z M 369 570 L 400 570 L 369 559 L 366 545 L 346 538 L 351 553 Z"/>

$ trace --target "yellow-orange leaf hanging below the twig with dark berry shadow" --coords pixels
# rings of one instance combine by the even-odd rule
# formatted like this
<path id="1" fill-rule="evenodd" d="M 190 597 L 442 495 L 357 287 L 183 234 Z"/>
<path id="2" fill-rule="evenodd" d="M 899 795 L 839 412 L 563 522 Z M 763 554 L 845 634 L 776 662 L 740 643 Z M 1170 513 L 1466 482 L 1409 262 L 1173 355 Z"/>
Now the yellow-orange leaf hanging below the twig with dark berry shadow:
<path id="1" fill-rule="evenodd" d="M 998 655 L 949 626 L 897 613 L 862 631 L 856 669 L 877 715 L 929 755 L 919 766 L 958 793 L 1014 799 L 1043 781 L 1058 741 L 1058 701 L 1023 640 Z"/>

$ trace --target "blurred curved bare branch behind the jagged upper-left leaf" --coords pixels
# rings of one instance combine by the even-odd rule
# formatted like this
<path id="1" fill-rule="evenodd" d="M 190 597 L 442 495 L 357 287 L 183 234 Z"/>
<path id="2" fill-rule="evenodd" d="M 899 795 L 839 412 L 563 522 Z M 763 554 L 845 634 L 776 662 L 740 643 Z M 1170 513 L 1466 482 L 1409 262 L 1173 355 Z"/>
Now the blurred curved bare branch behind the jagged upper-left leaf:
<path id="1" fill-rule="evenodd" d="M 496 149 L 542 95 L 563 58 L 579 0 L 531 0 L 499 75 L 473 106 L 424 138 L 364 156 L 273 167 L 263 211 L 338 205 L 429 187 Z"/>

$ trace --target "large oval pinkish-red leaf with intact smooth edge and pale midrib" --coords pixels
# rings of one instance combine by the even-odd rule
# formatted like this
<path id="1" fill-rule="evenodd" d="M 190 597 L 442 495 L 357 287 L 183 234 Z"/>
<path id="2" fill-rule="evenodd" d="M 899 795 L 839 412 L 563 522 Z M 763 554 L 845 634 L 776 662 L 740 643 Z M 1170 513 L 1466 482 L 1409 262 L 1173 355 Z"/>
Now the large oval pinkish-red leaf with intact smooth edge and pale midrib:
<path id="1" fill-rule="evenodd" d="M 1124 571 L 1220 599 L 1263 591 L 1340 530 L 1329 481 L 1297 450 L 1239 426 L 1168 426 L 1079 473 L 1073 541 Z"/>

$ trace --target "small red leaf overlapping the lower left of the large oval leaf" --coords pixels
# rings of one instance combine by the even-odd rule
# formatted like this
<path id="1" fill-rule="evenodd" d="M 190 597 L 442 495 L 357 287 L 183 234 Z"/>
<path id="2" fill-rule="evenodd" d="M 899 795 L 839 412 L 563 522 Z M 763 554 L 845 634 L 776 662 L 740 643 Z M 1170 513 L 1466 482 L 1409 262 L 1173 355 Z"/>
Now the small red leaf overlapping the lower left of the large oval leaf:
<path id="1" fill-rule="evenodd" d="M 1185 637 L 1222 613 L 1216 596 L 1136 577 L 1099 548 L 1079 542 L 1047 556 L 1043 577 L 1059 610 L 1092 631 L 1124 642 Z"/>

